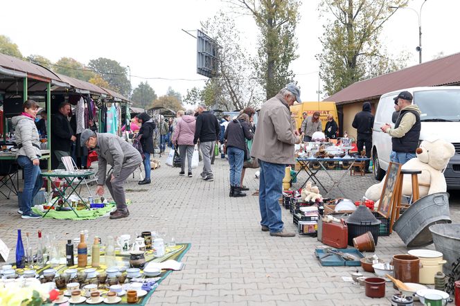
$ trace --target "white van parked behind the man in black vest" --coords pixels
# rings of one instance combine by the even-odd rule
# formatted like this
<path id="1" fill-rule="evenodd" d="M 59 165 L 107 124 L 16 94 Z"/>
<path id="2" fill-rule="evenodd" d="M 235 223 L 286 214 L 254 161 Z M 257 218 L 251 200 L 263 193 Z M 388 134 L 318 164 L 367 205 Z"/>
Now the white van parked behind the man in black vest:
<path id="1" fill-rule="evenodd" d="M 414 96 L 412 103 L 421 110 L 420 141 L 429 138 L 443 138 L 455 147 L 455 155 L 450 159 L 444 172 L 448 189 L 460 189 L 460 87 L 414 87 L 385 93 L 380 97 L 372 132 L 372 159 L 375 179 L 382 180 L 388 168 L 391 153 L 391 136 L 382 132 L 385 123 L 394 126 L 391 116 L 394 100 L 401 91 L 409 91 Z"/>

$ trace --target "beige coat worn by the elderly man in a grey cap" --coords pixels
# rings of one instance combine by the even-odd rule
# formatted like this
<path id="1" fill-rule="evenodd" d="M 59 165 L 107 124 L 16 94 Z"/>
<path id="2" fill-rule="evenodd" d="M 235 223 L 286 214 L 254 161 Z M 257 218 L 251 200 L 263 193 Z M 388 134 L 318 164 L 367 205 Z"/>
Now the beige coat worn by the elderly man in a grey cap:
<path id="1" fill-rule="evenodd" d="M 293 164 L 296 140 L 288 102 L 278 93 L 260 109 L 251 156 L 268 163 Z"/>

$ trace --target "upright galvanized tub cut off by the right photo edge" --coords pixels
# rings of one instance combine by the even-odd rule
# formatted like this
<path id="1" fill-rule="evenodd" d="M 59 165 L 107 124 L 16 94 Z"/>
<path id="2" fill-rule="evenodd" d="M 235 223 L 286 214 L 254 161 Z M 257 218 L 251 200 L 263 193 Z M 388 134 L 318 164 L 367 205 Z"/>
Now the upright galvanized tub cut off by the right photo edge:
<path id="1" fill-rule="evenodd" d="M 452 264 L 460 258 L 460 224 L 435 224 L 430 226 L 430 231 L 436 250 L 447 260 L 443 271 L 450 274 Z"/>

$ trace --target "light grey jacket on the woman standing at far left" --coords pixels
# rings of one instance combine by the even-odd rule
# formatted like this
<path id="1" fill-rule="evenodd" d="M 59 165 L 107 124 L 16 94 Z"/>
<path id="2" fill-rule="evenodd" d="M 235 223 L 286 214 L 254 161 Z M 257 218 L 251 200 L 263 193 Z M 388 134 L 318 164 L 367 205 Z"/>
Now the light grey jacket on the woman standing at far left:
<path id="1" fill-rule="evenodd" d="M 15 143 L 21 147 L 17 151 L 17 156 L 27 156 L 30 161 L 42 156 L 40 153 L 40 136 L 33 118 L 20 115 L 11 119 L 12 125 L 15 126 Z"/>

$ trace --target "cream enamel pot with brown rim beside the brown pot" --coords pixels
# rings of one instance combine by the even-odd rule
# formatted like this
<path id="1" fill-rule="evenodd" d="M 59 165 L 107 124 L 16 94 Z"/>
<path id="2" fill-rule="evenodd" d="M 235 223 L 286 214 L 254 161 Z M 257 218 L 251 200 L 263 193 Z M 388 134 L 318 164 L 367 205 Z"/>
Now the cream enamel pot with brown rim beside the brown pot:
<path id="1" fill-rule="evenodd" d="M 421 268 L 418 282 L 421 284 L 434 284 L 434 276 L 437 272 L 443 271 L 443 264 L 447 262 L 443 260 L 443 253 L 423 249 L 410 250 L 407 253 L 420 258 Z"/>

